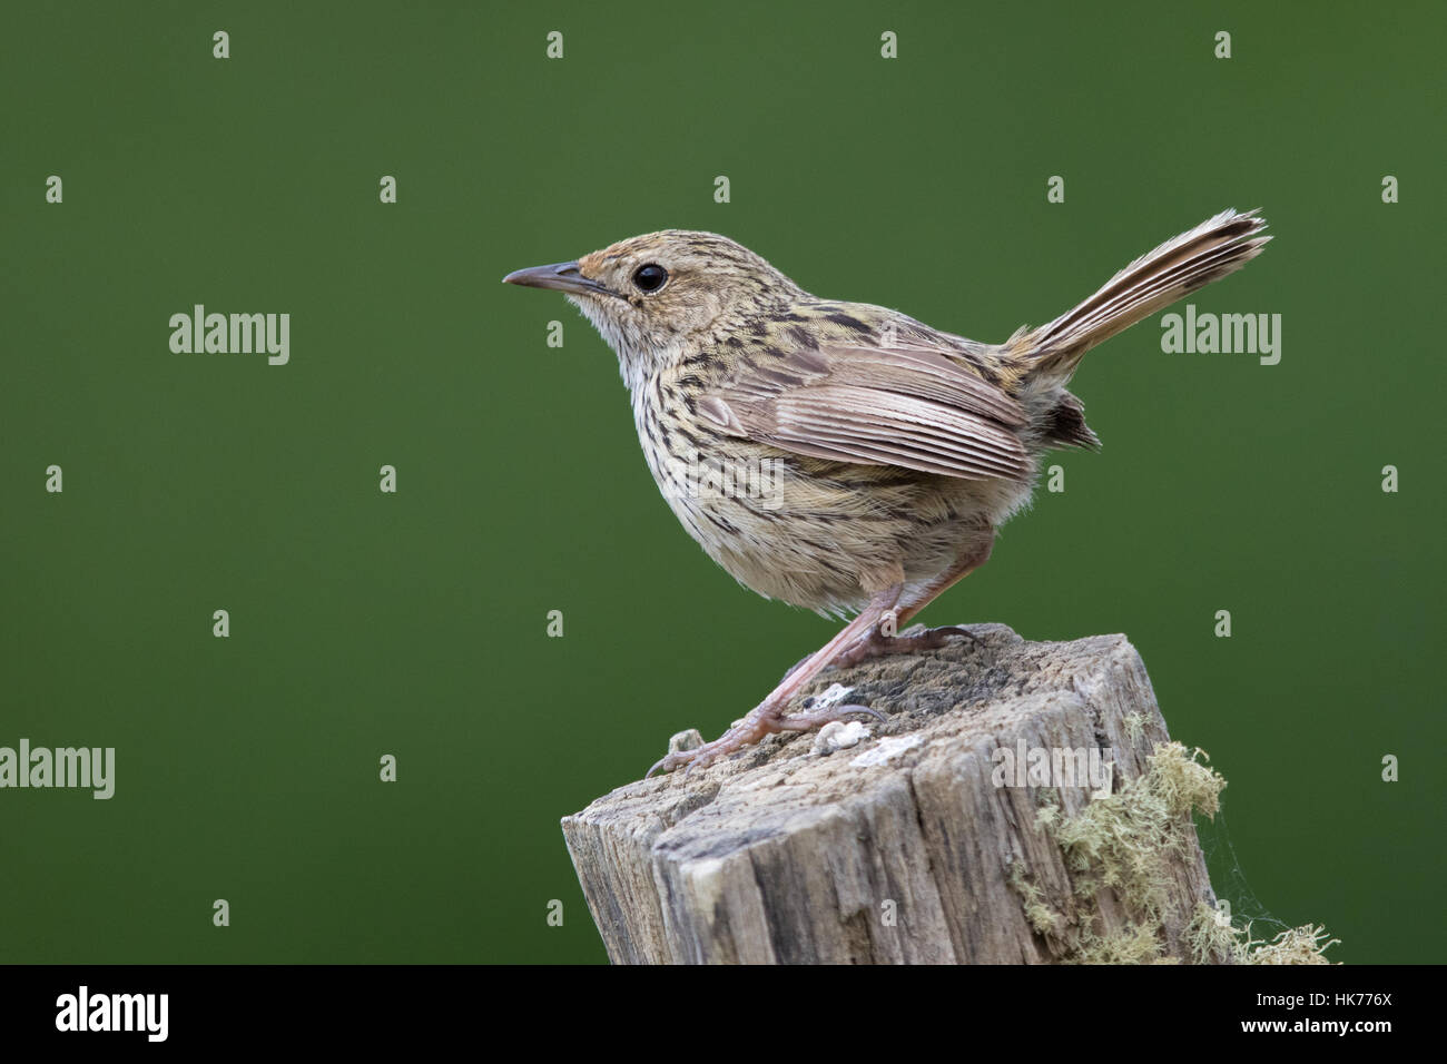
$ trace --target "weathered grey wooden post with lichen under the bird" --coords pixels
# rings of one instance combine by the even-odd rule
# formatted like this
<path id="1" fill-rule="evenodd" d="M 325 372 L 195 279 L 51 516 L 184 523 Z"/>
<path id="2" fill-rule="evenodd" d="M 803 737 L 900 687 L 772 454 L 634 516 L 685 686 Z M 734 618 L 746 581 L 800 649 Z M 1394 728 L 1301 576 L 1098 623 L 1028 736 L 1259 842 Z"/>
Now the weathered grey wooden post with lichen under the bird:
<path id="1" fill-rule="evenodd" d="M 1134 647 L 1123 636 L 1027 643 L 1003 625 L 972 631 L 978 644 L 828 672 L 810 692 L 852 688 L 848 701 L 887 712 L 887 724 L 770 737 L 564 818 L 609 957 L 1191 960 L 1195 944 L 1197 960 L 1221 960 L 1200 931 L 1215 899 L 1191 795 L 1178 801 L 1187 779 L 1214 811 L 1220 777 L 1166 747 Z M 855 746 L 828 750 L 860 731 Z M 1019 786 L 1013 769 L 1001 779 L 1010 766 L 998 751 L 1017 757 L 1022 744 L 1072 751 L 1072 763 L 1103 751 L 1108 790 L 1092 799 L 1087 780 L 1061 776 Z M 1174 757 L 1147 761 L 1158 750 Z"/>

